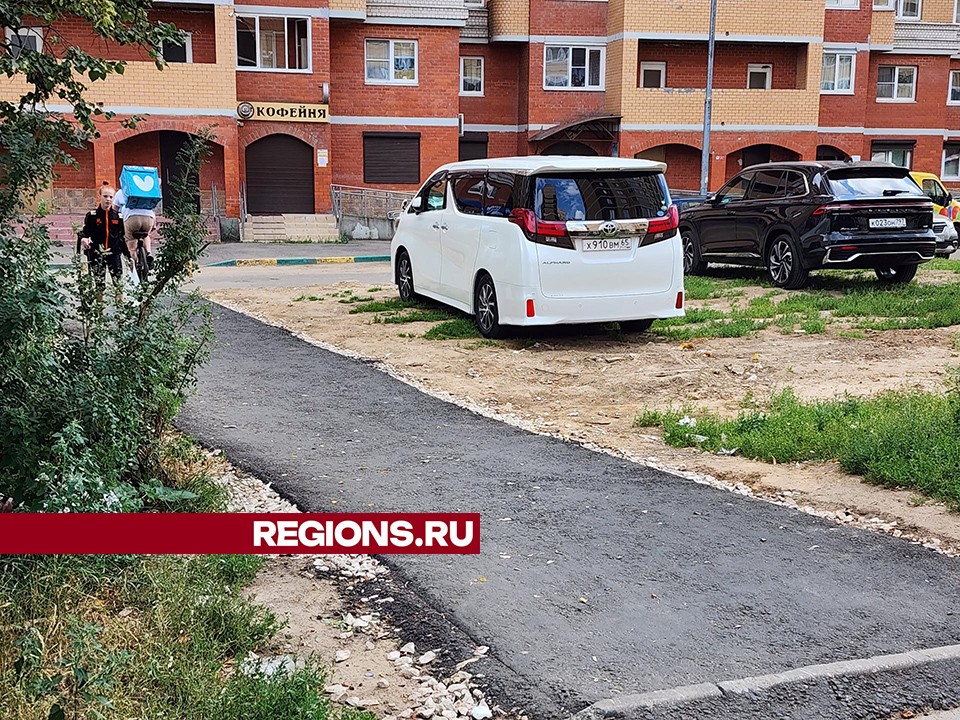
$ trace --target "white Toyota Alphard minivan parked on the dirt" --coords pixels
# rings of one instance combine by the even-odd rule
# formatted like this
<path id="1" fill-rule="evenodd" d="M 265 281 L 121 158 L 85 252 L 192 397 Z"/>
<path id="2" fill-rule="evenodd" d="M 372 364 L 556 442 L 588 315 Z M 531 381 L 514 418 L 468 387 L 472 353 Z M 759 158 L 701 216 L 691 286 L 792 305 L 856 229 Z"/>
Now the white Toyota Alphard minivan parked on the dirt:
<path id="1" fill-rule="evenodd" d="M 678 213 L 649 160 L 529 156 L 438 169 L 390 246 L 403 300 L 504 326 L 619 321 L 643 332 L 683 315 Z"/>

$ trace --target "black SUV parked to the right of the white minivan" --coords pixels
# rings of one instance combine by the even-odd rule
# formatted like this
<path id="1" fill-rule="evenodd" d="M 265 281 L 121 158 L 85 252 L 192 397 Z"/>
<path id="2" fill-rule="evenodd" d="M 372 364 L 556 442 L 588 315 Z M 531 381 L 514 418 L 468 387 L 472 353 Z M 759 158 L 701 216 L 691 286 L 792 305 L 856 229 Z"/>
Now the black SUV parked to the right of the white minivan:
<path id="1" fill-rule="evenodd" d="M 764 266 L 782 288 L 818 268 L 871 269 L 907 283 L 937 241 L 933 204 L 905 168 L 885 163 L 753 165 L 680 216 L 683 269 Z"/>

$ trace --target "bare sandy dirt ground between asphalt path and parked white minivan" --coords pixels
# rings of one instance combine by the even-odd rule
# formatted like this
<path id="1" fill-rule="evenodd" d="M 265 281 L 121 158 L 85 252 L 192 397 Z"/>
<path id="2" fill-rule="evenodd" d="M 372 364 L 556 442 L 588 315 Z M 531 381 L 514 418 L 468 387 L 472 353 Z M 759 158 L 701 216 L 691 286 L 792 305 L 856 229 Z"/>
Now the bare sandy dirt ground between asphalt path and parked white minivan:
<path id="1" fill-rule="evenodd" d="M 748 393 L 763 400 L 789 386 L 805 399 L 883 390 L 942 389 L 960 364 L 956 328 L 867 332 L 841 337 L 784 335 L 772 327 L 744 338 L 680 343 L 650 334 L 617 338 L 600 329 L 537 331 L 497 341 L 428 341 L 433 323 L 384 324 L 334 293 L 396 297 L 351 283 L 216 290 L 211 299 L 315 340 L 384 363 L 395 374 L 470 405 L 515 416 L 536 429 L 743 483 L 762 494 L 791 493 L 799 504 L 876 516 L 905 532 L 960 548 L 960 514 L 910 491 L 868 485 L 831 464 L 771 465 L 666 445 L 633 426 L 647 408 L 685 404 L 735 415 Z M 302 296 L 323 300 L 294 301 Z M 691 303 L 696 305 L 698 303 Z M 703 303 L 699 303 L 703 304 Z"/>

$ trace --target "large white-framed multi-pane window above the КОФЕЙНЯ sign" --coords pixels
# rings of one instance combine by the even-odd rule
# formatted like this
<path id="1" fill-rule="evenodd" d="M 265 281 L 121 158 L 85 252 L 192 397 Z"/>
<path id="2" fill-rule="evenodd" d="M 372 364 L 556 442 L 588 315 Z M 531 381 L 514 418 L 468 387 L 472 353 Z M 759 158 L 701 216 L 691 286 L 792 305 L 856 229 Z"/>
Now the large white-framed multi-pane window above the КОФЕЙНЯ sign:
<path id="1" fill-rule="evenodd" d="M 237 68 L 309 72 L 309 18 L 237 15 Z"/>

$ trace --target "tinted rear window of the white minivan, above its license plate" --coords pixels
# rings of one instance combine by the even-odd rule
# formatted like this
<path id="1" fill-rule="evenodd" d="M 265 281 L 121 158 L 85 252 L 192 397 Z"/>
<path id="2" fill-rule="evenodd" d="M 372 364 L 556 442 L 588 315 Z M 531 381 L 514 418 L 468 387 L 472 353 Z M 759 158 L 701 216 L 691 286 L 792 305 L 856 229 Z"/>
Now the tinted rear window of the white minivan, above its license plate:
<path id="1" fill-rule="evenodd" d="M 534 211 L 546 221 L 651 218 L 669 205 L 660 173 L 538 175 L 534 184 Z"/>

